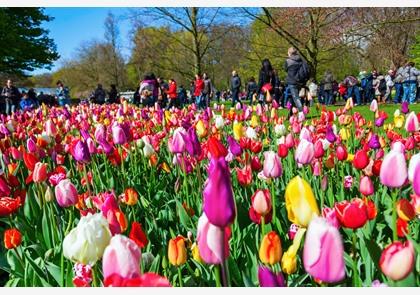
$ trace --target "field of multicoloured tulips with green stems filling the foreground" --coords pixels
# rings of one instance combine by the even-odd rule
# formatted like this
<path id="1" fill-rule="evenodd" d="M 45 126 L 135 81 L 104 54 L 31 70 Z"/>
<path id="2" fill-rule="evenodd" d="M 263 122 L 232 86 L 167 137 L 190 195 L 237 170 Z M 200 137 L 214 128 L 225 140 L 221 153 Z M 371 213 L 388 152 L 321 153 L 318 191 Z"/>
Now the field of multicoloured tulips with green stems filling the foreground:
<path id="1" fill-rule="evenodd" d="M 0 119 L 0 285 L 420 286 L 420 106 Z"/>

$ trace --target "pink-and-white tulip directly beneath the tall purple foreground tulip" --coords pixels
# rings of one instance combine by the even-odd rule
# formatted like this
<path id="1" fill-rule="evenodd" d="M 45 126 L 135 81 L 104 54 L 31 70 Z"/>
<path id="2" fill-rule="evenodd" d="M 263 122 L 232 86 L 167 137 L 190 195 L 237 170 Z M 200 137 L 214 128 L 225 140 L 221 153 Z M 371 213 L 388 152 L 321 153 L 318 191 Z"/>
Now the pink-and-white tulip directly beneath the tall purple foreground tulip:
<path id="1" fill-rule="evenodd" d="M 201 258 L 208 264 L 221 264 L 229 257 L 230 228 L 209 222 L 205 213 L 198 220 L 197 244 Z"/>

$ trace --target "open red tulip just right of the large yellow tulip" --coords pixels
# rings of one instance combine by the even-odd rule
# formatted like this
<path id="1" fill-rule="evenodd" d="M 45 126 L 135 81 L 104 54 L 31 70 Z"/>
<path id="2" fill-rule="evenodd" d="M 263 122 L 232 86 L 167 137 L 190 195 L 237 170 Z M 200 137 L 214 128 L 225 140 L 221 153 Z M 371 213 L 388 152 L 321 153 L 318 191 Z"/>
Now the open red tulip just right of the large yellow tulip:
<path id="1" fill-rule="evenodd" d="M 356 229 L 365 225 L 368 220 L 367 207 L 363 200 L 355 198 L 336 203 L 335 212 L 344 227 Z"/>

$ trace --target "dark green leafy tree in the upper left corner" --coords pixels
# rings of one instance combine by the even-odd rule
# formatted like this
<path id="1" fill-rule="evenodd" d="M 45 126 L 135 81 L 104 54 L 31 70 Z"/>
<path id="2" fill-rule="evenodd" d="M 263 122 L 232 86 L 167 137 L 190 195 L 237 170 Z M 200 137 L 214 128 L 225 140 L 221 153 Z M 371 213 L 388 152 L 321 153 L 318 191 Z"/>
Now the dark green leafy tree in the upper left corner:
<path id="1" fill-rule="evenodd" d="M 41 28 L 51 20 L 41 8 L 0 8 L 0 72 L 25 75 L 51 68 L 59 55 L 48 31 Z"/>

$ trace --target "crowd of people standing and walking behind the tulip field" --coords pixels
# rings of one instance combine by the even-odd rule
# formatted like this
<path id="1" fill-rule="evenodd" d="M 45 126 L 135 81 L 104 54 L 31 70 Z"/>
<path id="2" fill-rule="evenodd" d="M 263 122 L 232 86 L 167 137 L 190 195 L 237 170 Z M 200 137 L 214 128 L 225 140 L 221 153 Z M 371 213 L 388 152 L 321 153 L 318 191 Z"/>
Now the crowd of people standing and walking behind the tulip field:
<path id="1" fill-rule="evenodd" d="M 358 77 L 348 75 L 338 82 L 333 73 L 327 70 L 317 83 L 310 79 L 308 64 L 299 56 L 293 47 L 288 50 L 283 70 L 286 78 L 281 80 L 278 71 L 273 68 L 269 59 L 264 59 L 259 71 L 258 80 L 248 79 L 242 84 L 237 71 L 232 71 L 230 88 L 225 91 L 216 90 L 206 73 L 197 74 L 187 90 L 183 85 L 178 88 L 175 79 L 167 82 L 153 73 L 144 75 L 134 96 L 133 103 L 141 106 L 154 106 L 158 103 L 162 108 L 180 108 L 185 104 L 195 103 L 200 109 L 210 105 L 211 100 L 231 100 L 232 104 L 248 101 L 249 104 L 272 103 L 273 100 L 282 107 L 295 106 L 302 110 L 303 105 L 311 106 L 317 100 L 320 104 L 334 105 L 340 100 L 352 98 L 355 105 L 369 104 L 373 99 L 379 103 L 417 103 L 420 99 L 420 71 L 413 62 L 408 62 L 398 69 L 391 69 L 385 75 L 373 70 L 362 71 Z M 39 93 L 33 89 L 20 92 L 7 80 L 1 91 L 0 107 L 2 113 L 10 114 L 18 109 L 33 109 L 45 103 L 47 105 L 70 104 L 69 88 L 61 81 L 56 83 L 55 95 Z M 115 85 L 106 91 L 101 84 L 91 93 L 88 100 L 82 102 L 97 104 L 118 103 L 120 96 Z"/>

